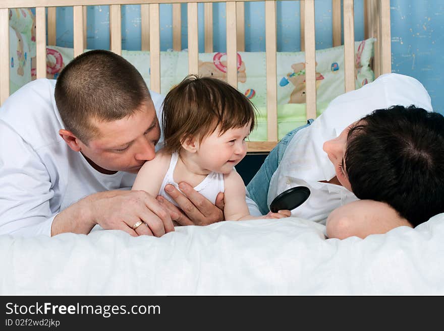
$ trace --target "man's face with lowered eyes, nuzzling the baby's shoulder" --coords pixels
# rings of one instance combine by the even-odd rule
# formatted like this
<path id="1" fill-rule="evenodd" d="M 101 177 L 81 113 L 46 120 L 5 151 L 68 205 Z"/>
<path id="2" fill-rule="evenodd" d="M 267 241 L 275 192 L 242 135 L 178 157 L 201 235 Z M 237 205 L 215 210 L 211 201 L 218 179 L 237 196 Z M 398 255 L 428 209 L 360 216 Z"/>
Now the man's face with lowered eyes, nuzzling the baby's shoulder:
<path id="1" fill-rule="evenodd" d="M 99 135 L 85 145 L 79 142 L 81 153 L 98 171 L 137 173 L 145 161 L 155 156 L 160 127 L 153 103 L 142 104 L 133 115 L 104 121 L 91 119 Z"/>

